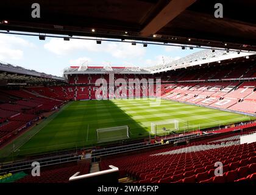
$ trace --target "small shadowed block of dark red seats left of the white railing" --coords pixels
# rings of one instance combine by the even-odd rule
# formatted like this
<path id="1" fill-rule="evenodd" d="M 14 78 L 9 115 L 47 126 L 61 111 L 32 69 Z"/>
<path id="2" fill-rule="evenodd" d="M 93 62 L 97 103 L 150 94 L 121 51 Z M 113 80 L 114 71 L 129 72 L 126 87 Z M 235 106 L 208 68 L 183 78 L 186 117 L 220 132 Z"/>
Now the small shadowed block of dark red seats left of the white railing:
<path id="1" fill-rule="evenodd" d="M 63 167 L 64 166 L 64 167 Z M 76 172 L 88 174 L 90 171 L 90 163 L 65 163 L 65 165 L 51 166 L 45 171 L 40 172 L 40 177 L 33 177 L 31 175 L 16 181 L 17 183 L 68 183 L 69 177 Z"/>

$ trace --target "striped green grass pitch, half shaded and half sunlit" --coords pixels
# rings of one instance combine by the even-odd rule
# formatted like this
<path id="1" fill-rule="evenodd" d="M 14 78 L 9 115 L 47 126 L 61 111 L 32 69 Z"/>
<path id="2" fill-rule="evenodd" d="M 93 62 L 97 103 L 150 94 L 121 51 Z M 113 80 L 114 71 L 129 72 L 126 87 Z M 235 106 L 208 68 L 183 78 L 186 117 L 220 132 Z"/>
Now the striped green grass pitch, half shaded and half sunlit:
<path id="1" fill-rule="evenodd" d="M 156 121 L 178 120 L 177 132 L 187 132 L 252 119 L 245 115 L 178 102 L 162 100 L 160 105 L 151 106 L 152 102 L 155 100 L 71 102 L 60 112 L 16 139 L 15 152 L 12 155 L 95 146 L 98 144 L 96 129 L 99 128 L 129 126 L 130 139 L 136 139 L 149 137 L 151 122 Z"/>

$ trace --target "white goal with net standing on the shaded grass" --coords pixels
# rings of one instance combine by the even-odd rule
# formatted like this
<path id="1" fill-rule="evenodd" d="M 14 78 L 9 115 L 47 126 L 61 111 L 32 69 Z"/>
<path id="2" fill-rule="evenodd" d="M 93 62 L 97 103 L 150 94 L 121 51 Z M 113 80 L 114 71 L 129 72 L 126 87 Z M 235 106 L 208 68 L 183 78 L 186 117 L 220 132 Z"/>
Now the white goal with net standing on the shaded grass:
<path id="1" fill-rule="evenodd" d="M 128 126 L 97 129 L 96 132 L 97 132 L 98 142 L 125 140 L 129 138 Z"/>

